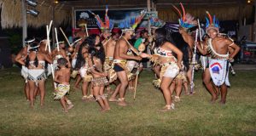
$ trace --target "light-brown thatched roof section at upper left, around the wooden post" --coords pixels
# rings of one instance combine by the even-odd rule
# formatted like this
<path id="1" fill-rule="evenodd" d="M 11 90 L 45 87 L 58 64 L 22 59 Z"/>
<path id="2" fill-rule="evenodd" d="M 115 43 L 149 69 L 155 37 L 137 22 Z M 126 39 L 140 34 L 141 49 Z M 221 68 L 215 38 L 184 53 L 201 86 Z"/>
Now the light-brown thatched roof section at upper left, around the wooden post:
<path id="1" fill-rule="evenodd" d="M 38 17 L 31 14 L 26 15 L 27 25 L 32 27 L 40 27 L 49 24 L 52 20 L 53 6 L 48 0 L 38 1 L 36 9 L 40 12 Z M 44 3 L 43 3 L 44 2 Z M 52 1 L 51 1 L 52 2 Z M 20 0 L 0 0 L 1 26 L 2 28 L 22 27 L 22 10 Z M 29 6 L 27 6 L 29 8 Z M 55 25 L 67 23 L 70 20 L 70 10 L 66 8 L 55 7 Z"/>

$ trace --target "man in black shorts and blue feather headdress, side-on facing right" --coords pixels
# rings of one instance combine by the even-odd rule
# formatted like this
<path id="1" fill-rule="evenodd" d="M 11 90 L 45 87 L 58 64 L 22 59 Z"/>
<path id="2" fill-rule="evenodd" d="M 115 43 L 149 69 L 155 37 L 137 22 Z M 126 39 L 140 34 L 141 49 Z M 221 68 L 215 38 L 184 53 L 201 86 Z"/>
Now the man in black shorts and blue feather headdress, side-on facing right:
<path id="1" fill-rule="evenodd" d="M 140 56 L 127 55 L 129 48 L 131 48 L 134 52 L 137 52 L 137 49 L 133 48 L 128 40 L 131 39 L 135 28 L 143 19 L 143 16 L 144 14 L 140 15 L 137 18 L 135 24 L 133 24 L 132 26 L 131 20 L 125 20 L 119 25 L 120 28 L 123 28 L 123 36 L 119 38 L 119 41 L 115 45 L 115 50 L 113 54 L 113 70 L 117 73 L 117 77 L 119 78 L 120 83 L 116 87 L 109 101 L 117 101 L 115 97 L 117 94 L 119 94 L 118 105 L 121 106 L 127 105 L 125 102 L 125 90 L 128 85 L 128 77 L 126 73 L 127 68 L 125 67 L 126 61 L 127 59 L 141 60 L 144 56 L 144 54 L 141 54 Z"/>

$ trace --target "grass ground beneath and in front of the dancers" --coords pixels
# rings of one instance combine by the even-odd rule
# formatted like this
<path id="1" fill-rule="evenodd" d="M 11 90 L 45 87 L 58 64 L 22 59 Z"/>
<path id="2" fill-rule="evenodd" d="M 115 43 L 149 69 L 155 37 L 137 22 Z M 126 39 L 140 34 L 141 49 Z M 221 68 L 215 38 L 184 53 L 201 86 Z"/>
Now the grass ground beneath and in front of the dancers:
<path id="1" fill-rule="evenodd" d="M 151 83 L 152 72 L 143 71 L 137 99 L 131 92 L 126 94 L 128 107 L 111 103 L 112 110 L 102 114 L 96 102 L 82 102 L 81 92 L 72 89 L 69 98 L 75 107 L 64 114 L 52 99 L 50 79 L 44 108 L 37 99 L 31 110 L 19 70 L 4 70 L 0 71 L 0 135 L 256 135 L 255 76 L 256 71 L 236 71 L 236 77 L 230 77 L 227 104 L 211 105 L 197 72 L 196 94 L 183 95 L 175 111 L 160 113 L 165 101 Z"/>

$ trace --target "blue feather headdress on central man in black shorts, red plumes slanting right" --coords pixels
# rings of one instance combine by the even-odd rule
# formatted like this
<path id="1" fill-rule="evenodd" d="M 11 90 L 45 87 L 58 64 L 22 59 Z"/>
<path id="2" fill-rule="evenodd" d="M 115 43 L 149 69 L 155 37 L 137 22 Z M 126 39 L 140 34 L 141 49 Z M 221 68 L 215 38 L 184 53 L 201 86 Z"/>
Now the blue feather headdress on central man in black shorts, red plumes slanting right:
<path id="1" fill-rule="evenodd" d="M 143 20 L 145 14 L 146 13 L 143 11 L 137 18 L 131 18 L 129 20 L 121 21 L 119 23 L 119 28 L 122 29 L 122 31 L 134 31 Z"/>

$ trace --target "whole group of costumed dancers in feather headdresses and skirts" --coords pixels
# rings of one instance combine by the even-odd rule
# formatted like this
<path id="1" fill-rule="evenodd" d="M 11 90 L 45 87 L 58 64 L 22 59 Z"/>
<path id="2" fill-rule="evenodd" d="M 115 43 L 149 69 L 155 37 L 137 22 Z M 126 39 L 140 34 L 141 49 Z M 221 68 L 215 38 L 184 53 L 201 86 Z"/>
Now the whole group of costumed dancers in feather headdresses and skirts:
<path id="1" fill-rule="evenodd" d="M 173 6 L 180 15 L 178 32 L 168 29 L 160 20 L 152 20 L 152 33 L 140 31 L 134 45 L 131 39 L 144 13 L 135 20 L 120 22 L 122 31 L 113 33 L 108 9 L 105 22 L 94 14 L 101 35 L 89 36 L 81 21 L 82 29 L 69 48 L 65 48 L 64 42 L 57 42 L 55 49 L 50 52 L 50 48 L 47 48 L 49 40 L 38 41 L 37 38 L 27 37 L 26 46 L 15 59 L 22 65 L 21 75 L 26 79 L 26 99 L 33 107 L 37 94 L 40 94 L 40 104 L 44 105 L 45 79 L 52 74 L 54 99 L 60 99 L 65 112 L 74 106 L 67 99 L 71 77 L 76 79 L 74 88 L 79 88 L 82 82 L 82 99 L 98 102 L 101 111 L 110 110 L 108 102 L 125 106 L 125 91 L 127 88 L 136 91 L 138 75 L 143 71 L 141 60 L 145 58 L 152 62 L 152 70 L 157 78 L 153 84 L 160 88 L 166 100 L 166 106 L 160 111 L 172 111 L 174 102 L 180 101 L 183 88 L 185 94 L 195 93 L 193 78 L 199 65 L 195 59 L 197 52 L 201 54 L 202 81 L 212 95 L 211 102 L 214 103 L 221 94 L 220 103 L 225 104 L 230 86 L 230 61 L 234 60 L 240 48 L 229 37 L 219 33 L 218 20 L 208 12 L 207 34 L 201 36 L 199 21 L 185 13 L 182 3 L 180 6 L 182 12 Z M 189 31 L 197 27 L 196 31 Z M 203 39 L 197 40 L 198 37 Z M 150 48 L 151 54 L 143 53 L 145 48 Z M 110 85 L 115 87 L 113 91 Z M 172 96 L 174 92 L 175 96 Z"/>

